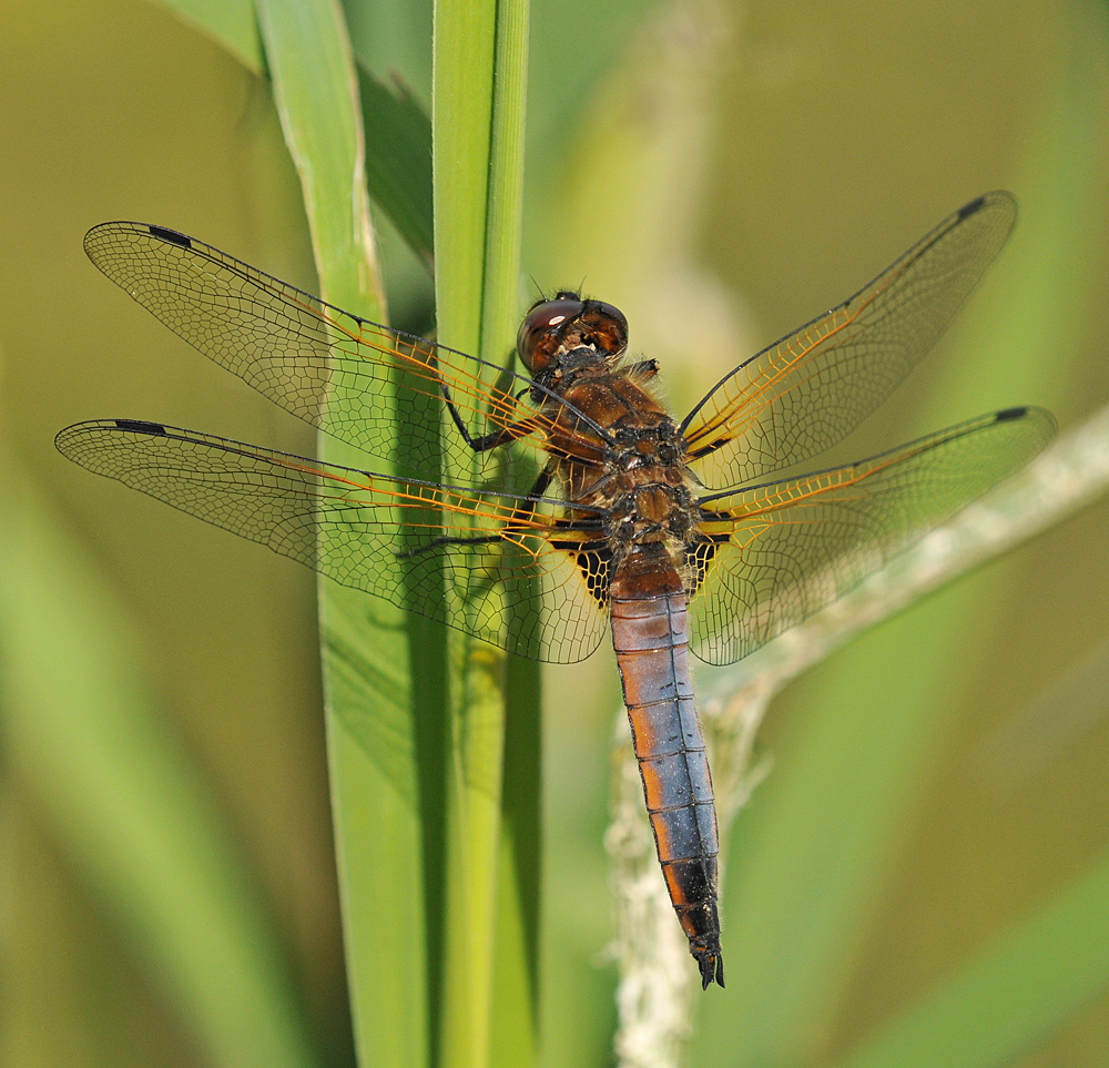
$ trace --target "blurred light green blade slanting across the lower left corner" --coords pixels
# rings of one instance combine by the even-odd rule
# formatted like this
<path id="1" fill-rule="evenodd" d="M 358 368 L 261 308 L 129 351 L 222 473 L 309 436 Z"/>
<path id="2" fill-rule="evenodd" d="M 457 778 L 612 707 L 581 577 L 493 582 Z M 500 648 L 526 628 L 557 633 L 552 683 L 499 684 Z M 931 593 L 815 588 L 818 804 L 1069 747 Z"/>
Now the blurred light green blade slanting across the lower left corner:
<path id="1" fill-rule="evenodd" d="M 0 499 L 11 766 L 208 1062 L 317 1065 L 276 933 L 129 653 L 141 639 L 6 457 Z"/>

